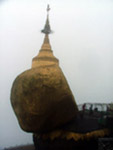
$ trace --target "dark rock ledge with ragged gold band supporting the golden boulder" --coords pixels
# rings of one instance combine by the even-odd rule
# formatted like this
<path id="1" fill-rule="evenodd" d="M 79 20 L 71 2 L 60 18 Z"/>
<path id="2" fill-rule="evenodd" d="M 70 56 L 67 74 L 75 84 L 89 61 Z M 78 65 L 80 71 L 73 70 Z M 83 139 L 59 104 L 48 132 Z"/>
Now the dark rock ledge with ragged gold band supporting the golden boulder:
<path id="1" fill-rule="evenodd" d="M 113 130 L 100 127 L 98 119 L 78 117 L 59 129 L 33 134 L 33 141 L 36 150 L 104 150 L 99 147 L 106 142 L 113 148 Z"/>

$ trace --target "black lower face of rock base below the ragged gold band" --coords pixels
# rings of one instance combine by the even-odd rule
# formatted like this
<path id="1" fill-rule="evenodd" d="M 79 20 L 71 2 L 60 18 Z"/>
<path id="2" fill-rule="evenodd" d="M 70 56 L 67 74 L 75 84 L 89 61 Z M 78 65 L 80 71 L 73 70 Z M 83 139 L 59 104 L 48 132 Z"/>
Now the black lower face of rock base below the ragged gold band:
<path id="1" fill-rule="evenodd" d="M 75 141 L 33 137 L 35 150 L 113 150 L 113 137 L 91 138 Z"/>

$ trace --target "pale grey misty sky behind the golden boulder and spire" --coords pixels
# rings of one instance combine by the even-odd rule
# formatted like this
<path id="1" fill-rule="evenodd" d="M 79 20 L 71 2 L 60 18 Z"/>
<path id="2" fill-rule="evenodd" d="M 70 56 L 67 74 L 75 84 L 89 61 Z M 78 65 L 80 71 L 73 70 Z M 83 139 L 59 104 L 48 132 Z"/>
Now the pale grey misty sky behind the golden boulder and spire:
<path id="1" fill-rule="evenodd" d="M 50 42 L 76 102 L 113 102 L 112 0 L 0 0 L 0 147 L 32 143 L 10 104 L 17 75 L 31 68 L 50 4 Z"/>

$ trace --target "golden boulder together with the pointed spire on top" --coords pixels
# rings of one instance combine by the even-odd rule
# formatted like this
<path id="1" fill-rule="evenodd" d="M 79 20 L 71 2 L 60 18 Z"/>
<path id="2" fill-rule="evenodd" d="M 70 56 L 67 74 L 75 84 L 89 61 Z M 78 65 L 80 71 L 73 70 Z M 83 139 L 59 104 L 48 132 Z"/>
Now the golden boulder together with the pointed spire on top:
<path id="1" fill-rule="evenodd" d="M 20 127 L 37 134 L 66 124 L 78 113 L 73 94 L 49 42 L 52 32 L 49 10 L 48 5 L 42 30 L 44 41 L 32 60 L 32 68 L 17 76 L 11 89 L 11 104 Z"/>

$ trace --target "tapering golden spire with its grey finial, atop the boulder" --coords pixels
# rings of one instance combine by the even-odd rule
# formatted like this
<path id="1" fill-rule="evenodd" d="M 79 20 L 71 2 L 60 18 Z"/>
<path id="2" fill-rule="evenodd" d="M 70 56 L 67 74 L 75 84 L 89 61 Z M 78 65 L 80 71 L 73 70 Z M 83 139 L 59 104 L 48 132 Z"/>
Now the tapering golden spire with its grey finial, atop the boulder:
<path id="1" fill-rule="evenodd" d="M 49 35 L 51 33 L 50 25 L 49 25 L 49 5 L 47 6 L 47 19 L 46 24 L 42 33 L 45 34 L 43 44 L 41 49 L 36 57 L 33 58 L 32 68 L 39 66 L 48 66 L 48 65 L 58 65 L 58 59 L 53 55 L 53 51 L 51 50 L 51 45 L 49 42 Z"/>

